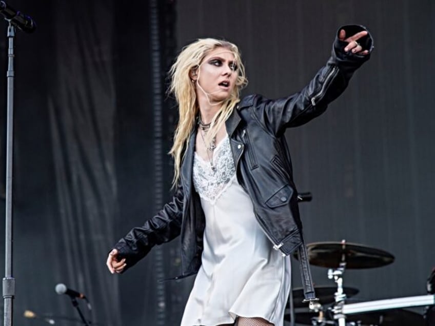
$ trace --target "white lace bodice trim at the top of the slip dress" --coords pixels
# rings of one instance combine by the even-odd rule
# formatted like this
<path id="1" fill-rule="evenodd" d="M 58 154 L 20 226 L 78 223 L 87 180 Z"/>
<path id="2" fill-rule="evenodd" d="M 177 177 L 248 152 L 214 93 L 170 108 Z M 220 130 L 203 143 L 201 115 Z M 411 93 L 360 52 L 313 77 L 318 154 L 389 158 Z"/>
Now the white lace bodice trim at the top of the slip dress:
<path id="1" fill-rule="evenodd" d="M 210 162 L 200 155 L 194 155 L 193 185 L 201 198 L 210 201 L 212 205 L 235 178 L 234 160 L 231 153 L 228 135 L 217 144 L 213 151 L 214 171 Z"/>

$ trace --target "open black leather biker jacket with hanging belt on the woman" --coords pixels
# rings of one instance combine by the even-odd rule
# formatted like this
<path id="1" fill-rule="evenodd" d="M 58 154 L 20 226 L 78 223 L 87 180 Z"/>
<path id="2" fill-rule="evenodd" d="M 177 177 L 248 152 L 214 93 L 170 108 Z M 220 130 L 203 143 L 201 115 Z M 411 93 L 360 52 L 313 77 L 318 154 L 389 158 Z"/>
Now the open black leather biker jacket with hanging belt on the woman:
<path id="1" fill-rule="evenodd" d="M 342 28 L 347 36 L 365 30 L 355 25 Z M 370 35 L 358 42 L 371 52 Z M 252 199 L 255 217 L 273 248 L 283 255 L 298 250 L 307 300 L 314 299 L 315 295 L 284 132 L 286 128 L 303 125 L 323 113 L 345 90 L 353 72 L 369 58 L 369 55 L 345 53 L 346 45 L 335 39 L 326 66 L 301 92 L 276 100 L 261 95 L 247 96 L 226 121 L 238 181 Z M 192 184 L 196 138 L 196 128 L 193 129 L 181 166 L 181 180 L 172 201 L 142 227 L 133 228 L 114 247 L 120 257 L 126 258 L 126 269 L 143 258 L 155 244 L 179 235 L 180 277 L 196 273 L 201 266 L 205 217 L 200 197 Z"/>

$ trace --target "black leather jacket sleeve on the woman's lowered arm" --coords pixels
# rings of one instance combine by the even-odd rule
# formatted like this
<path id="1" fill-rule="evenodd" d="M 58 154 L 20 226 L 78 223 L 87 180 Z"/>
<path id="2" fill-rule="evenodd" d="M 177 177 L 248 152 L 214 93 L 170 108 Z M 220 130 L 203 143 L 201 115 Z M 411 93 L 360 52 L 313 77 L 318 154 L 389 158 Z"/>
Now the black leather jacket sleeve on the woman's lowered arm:
<path id="1" fill-rule="evenodd" d="M 177 185 L 172 200 L 142 227 L 135 227 L 113 247 L 120 259 L 126 258 L 124 271 L 145 257 L 156 244 L 168 242 L 180 235 L 183 215 L 183 189 Z"/>

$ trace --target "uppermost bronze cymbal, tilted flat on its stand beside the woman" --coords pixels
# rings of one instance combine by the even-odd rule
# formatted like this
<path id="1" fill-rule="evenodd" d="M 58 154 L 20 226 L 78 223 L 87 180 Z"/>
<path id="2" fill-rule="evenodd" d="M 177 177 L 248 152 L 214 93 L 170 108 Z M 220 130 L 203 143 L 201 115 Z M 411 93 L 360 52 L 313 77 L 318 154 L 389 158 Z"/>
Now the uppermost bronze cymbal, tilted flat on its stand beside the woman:
<path id="1" fill-rule="evenodd" d="M 307 251 L 310 264 L 327 268 L 339 268 L 340 262 L 346 262 L 346 269 L 374 268 L 394 261 L 384 250 L 344 241 L 308 243 Z"/>

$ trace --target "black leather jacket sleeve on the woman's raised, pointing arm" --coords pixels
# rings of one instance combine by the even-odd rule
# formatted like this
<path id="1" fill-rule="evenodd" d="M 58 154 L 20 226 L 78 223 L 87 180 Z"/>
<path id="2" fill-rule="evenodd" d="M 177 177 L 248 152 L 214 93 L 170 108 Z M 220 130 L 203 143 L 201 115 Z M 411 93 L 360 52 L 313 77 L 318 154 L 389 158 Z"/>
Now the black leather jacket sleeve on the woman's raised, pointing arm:
<path id="1" fill-rule="evenodd" d="M 366 30 L 359 25 L 341 27 L 335 36 L 327 64 L 299 93 L 275 100 L 261 95 L 254 98 L 254 116 L 274 135 L 280 136 L 286 128 L 303 125 L 325 112 L 328 104 L 346 89 L 355 70 L 369 59 L 373 50 L 371 35 L 368 33 L 358 40 L 363 50 L 369 51 L 367 55 L 345 52 L 348 43 L 338 37 L 342 29 L 346 37 Z"/>

